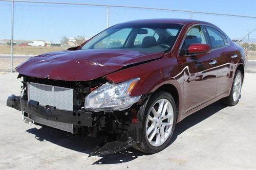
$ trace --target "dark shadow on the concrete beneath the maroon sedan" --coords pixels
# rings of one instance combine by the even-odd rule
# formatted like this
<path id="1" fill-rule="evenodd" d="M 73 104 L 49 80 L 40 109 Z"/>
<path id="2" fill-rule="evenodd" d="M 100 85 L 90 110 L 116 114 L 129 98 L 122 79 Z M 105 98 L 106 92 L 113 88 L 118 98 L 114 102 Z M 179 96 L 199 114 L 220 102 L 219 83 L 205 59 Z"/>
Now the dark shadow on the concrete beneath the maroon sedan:
<path id="1" fill-rule="evenodd" d="M 188 128 L 202 122 L 206 118 L 217 113 L 225 107 L 226 106 L 222 105 L 220 102 L 216 102 L 183 119 L 176 125 L 175 132 L 169 142 L 169 145 L 172 144 L 177 139 L 177 137 Z M 50 128 L 31 128 L 28 129 L 27 132 L 34 134 L 35 138 L 39 141 L 49 141 L 61 147 L 86 154 L 90 154 L 91 151 L 102 141 L 102 139 L 92 137 L 86 137 L 82 139 Z M 120 153 L 100 156 L 101 158 L 93 164 L 116 164 L 129 162 L 143 155 L 147 154 L 139 152 L 133 148 L 129 148 Z"/>

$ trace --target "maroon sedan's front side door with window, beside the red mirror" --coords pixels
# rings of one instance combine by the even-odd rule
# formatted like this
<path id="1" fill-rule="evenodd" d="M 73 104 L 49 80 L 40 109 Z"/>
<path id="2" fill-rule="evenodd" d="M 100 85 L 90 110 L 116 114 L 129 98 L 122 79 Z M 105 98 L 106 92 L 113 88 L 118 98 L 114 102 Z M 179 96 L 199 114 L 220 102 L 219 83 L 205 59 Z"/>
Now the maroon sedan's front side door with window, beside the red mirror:
<path id="1" fill-rule="evenodd" d="M 208 44 L 206 32 L 201 26 L 190 28 L 181 48 L 187 48 L 193 43 Z M 214 53 L 183 56 L 185 80 L 183 86 L 184 112 L 187 112 L 215 98 L 217 88 L 217 69 Z"/>

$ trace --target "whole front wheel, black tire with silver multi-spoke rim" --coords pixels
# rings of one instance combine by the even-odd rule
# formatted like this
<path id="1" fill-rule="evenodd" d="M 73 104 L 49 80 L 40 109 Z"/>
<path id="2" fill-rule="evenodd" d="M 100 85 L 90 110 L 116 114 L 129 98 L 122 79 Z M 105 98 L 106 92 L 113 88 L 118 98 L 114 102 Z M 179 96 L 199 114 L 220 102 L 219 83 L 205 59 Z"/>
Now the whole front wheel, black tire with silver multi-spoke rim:
<path id="1" fill-rule="evenodd" d="M 160 103 L 158 103 L 159 101 Z M 164 115 L 161 114 L 160 118 L 157 119 L 158 122 L 153 123 L 155 122 L 155 118 L 157 117 L 155 117 L 155 114 L 153 114 L 152 107 L 154 106 L 154 109 L 156 110 L 156 107 L 158 106 L 156 111 L 159 111 L 159 109 L 161 108 L 160 105 L 162 102 L 163 102 L 162 108 L 164 108 L 164 106 L 166 105 L 167 109 L 164 112 Z M 164 109 L 160 109 L 160 110 L 164 110 Z M 157 112 L 155 113 L 157 114 Z M 149 116 L 151 116 L 150 118 L 153 118 L 154 121 L 148 120 Z M 162 116 L 166 118 L 164 119 Z M 148 153 L 148 154 L 157 153 L 163 150 L 169 143 L 170 139 L 172 138 L 172 135 L 175 129 L 176 118 L 177 118 L 177 109 L 176 109 L 176 105 L 172 95 L 163 91 L 154 93 L 151 96 L 151 98 L 148 100 L 145 108 L 145 112 L 143 115 L 141 141 L 139 143 L 134 143 L 133 147 L 136 150 L 139 150 L 141 152 Z M 168 121 L 169 123 L 172 123 L 172 125 L 169 125 Z M 150 135 L 147 135 L 147 132 L 150 132 L 149 129 L 150 128 L 152 129 L 153 126 L 156 128 L 153 129 L 151 133 L 148 133 Z M 155 137 L 152 138 L 151 135 L 153 135 L 155 131 L 158 131 L 158 134 L 155 134 Z M 164 134 L 164 135 L 160 135 L 160 131 L 163 132 L 161 134 Z M 160 140 L 159 140 L 159 137 L 160 137 Z M 150 141 L 150 139 L 152 139 L 152 141 Z"/>

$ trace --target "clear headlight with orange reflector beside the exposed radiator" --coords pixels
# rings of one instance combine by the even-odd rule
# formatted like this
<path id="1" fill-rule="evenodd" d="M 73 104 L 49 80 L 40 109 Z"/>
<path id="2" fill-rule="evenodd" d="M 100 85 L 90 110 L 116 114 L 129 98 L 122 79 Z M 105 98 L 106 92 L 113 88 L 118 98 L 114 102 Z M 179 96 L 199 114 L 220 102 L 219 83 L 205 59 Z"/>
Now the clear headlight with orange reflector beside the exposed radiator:
<path id="1" fill-rule="evenodd" d="M 140 96 L 130 96 L 139 78 L 119 84 L 105 83 L 92 91 L 84 102 L 84 108 L 93 111 L 124 110 L 138 102 Z"/>

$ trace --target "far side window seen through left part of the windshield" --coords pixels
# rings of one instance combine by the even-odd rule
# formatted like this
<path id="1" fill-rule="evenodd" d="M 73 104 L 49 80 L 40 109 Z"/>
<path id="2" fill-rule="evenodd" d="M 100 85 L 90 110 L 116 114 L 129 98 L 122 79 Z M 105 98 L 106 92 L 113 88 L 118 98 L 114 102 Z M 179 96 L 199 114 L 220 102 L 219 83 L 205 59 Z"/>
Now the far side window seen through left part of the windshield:
<path id="1" fill-rule="evenodd" d="M 99 41 L 94 45 L 94 49 L 122 47 L 131 30 L 132 28 L 121 29 L 114 34 L 105 37 L 103 40 Z"/>

